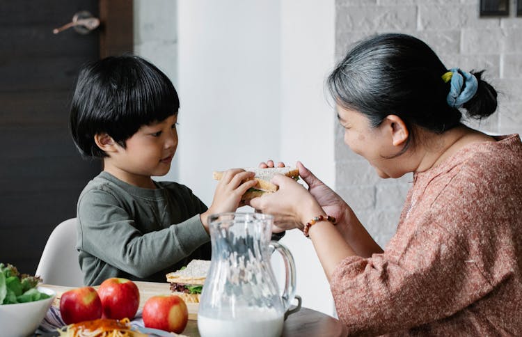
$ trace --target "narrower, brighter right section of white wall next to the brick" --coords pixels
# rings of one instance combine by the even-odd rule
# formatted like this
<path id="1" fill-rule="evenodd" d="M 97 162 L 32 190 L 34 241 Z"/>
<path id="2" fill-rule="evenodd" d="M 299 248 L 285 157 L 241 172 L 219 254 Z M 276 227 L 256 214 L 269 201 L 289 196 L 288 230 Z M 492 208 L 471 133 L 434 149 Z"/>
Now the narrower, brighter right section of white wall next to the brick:
<path id="1" fill-rule="evenodd" d="M 333 68 L 335 1 L 281 2 L 281 152 L 290 164 L 301 160 L 327 185 L 335 185 L 335 113 L 325 99 L 324 79 Z M 298 231 L 283 237 L 294 255 L 297 292 L 303 306 L 333 315 L 329 283 L 312 242 Z"/>

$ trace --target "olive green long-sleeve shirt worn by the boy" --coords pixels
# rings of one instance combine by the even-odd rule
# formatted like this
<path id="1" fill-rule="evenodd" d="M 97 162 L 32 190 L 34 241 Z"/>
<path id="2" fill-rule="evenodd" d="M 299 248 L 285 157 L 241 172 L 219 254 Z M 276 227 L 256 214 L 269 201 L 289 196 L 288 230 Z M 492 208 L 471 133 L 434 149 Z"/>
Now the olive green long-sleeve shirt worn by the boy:
<path id="1" fill-rule="evenodd" d="M 109 277 L 165 282 L 193 258 L 210 260 L 199 214 L 207 207 L 176 182 L 143 189 L 102 172 L 81 192 L 77 249 L 86 285 Z"/>

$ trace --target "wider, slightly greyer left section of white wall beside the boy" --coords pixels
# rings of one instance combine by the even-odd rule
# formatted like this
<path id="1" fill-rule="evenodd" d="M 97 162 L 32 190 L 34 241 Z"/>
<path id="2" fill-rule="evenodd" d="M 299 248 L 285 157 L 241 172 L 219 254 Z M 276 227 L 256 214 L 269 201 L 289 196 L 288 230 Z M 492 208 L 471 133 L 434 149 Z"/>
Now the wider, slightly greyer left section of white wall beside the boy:
<path id="1" fill-rule="evenodd" d="M 179 1 L 180 181 L 210 205 L 212 171 L 278 157 L 278 1 Z"/>

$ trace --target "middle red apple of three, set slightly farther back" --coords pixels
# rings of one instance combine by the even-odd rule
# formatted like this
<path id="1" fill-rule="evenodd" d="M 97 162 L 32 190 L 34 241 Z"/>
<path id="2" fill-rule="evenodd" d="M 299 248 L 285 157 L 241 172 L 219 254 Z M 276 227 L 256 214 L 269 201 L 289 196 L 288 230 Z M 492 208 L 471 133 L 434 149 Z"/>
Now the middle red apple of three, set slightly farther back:
<path id="1" fill-rule="evenodd" d="M 102 300 L 103 318 L 132 320 L 140 304 L 140 292 L 136 283 L 113 277 L 106 279 L 98 288 Z"/>

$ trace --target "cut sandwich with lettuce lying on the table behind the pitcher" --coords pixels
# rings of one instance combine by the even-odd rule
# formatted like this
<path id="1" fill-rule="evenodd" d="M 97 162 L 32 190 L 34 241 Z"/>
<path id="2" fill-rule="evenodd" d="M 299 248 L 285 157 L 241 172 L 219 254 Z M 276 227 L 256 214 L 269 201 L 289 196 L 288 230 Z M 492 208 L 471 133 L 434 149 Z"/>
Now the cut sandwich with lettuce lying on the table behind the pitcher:
<path id="1" fill-rule="evenodd" d="M 187 303 L 199 303 L 209 268 L 208 260 L 191 260 L 187 267 L 166 274 L 171 291 Z"/>

